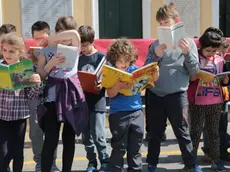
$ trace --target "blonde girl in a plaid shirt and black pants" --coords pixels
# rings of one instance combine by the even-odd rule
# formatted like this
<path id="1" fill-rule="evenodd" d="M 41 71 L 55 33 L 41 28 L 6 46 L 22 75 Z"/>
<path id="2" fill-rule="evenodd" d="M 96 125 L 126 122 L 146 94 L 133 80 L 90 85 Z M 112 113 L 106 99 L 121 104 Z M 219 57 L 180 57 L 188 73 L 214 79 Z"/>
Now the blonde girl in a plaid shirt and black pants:
<path id="1" fill-rule="evenodd" d="M 3 64 L 20 62 L 25 55 L 25 45 L 21 37 L 14 33 L 6 34 L 2 41 Z M 30 82 L 37 86 L 16 91 L 0 90 L 0 171 L 6 172 L 13 159 L 13 171 L 23 168 L 23 149 L 26 132 L 26 119 L 30 116 L 28 99 L 38 97 L 41 79 L 33 74 Z"/>

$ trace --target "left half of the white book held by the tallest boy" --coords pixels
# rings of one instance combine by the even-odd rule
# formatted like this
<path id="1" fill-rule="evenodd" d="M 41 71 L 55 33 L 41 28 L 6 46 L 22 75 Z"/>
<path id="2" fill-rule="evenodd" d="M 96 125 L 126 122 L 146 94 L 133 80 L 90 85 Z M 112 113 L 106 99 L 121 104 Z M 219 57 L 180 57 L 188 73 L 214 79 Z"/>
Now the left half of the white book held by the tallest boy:
<path id="1" fill-rule="evenodd" d="M 169 27 L 158 27 L 157 34 L 160 44 L 166 44 L 168 50 L 173 49 L 173 39 L 171 29 Z"/>

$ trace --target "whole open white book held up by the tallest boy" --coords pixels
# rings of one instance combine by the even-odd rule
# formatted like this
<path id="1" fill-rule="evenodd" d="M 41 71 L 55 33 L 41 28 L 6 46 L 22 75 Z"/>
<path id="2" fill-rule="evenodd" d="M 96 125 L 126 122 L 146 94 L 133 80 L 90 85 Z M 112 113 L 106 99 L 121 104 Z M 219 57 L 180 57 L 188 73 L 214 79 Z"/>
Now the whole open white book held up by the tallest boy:
<path id="1" fill-rule="evenodd" d="M 166 44 L 167 50 L 173 50 L 179 47 L 179 40 L 186 37 L 184 24 L 176 23 L 171 27 L 158 26 L 157 34 L 160 44 Z"/>

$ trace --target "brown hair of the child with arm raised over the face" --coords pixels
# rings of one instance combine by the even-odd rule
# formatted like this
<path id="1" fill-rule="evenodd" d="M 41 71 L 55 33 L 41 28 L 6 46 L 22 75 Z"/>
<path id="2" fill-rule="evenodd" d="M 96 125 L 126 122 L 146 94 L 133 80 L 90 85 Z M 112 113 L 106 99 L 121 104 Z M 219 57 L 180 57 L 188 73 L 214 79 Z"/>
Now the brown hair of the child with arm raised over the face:
<path id="1" fill-rule="evenodd" d="M 55 32 L 58 33 L 65 30 L 77 30 L 77 23 L 73 16 L 62 16 L 57 20 Z"/>

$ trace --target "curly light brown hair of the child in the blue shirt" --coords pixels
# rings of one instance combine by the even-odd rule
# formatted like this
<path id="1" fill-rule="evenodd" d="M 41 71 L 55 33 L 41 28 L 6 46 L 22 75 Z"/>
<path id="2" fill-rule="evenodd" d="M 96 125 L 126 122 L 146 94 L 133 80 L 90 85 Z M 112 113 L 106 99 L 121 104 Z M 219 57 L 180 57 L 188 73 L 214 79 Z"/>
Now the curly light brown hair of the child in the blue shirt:
<path id="1" fill-rule="evenodd" d="M 138 58 L 136 48 L 126 38 L 117 39 L 109 46 L 106 59 L 115 66 L 121 56 L 126 62 L 130 62 L 130 65 L 134 64 Z"/>

